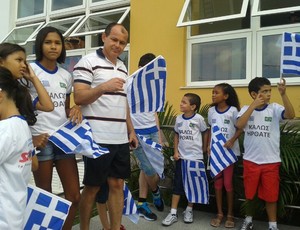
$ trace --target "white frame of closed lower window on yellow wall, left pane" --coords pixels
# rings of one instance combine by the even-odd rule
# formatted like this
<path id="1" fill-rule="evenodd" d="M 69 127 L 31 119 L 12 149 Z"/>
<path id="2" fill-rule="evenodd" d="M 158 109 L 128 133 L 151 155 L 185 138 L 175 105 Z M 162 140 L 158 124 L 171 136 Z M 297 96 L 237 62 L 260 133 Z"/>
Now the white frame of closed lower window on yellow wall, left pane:
<path id="1" fill-rule="evenodd" d="M 252 49 L 251 49 L 251 43 L 252 43 L 252 33 L 249 30 L 243 30 L 239 32 L 224 32 L 224 33 L 218 33 L 216 34 L 210 34 L 209 36 L 206 35 L 199 35 L 197 37 L 193 37 L 188 39 L 187 41 L 187 60 L 186 60 L 186 87 L 183 88 L 209 88 L 213 87 L 216 84 L 224 82 L 224 79 L 222 80 L 209 80 L 209 81 L 192 81 L 192 46 L 193 44 L 201 44 L 201 43 L 208 43 L 208 42 L 217 42 L 217 41 L 226 41 L 226 40 L 232 40 L 232 39 L 239 39 L 239 38 L 245 38 L 246 39 L 246 76 L 245 79 L 232 79 L 232 80 L 226 80 L 227 83 L 233 85 L 233 86 L 244 86 L 249 82 L 251 79 L 251 56 L 252 56 Z"/>

